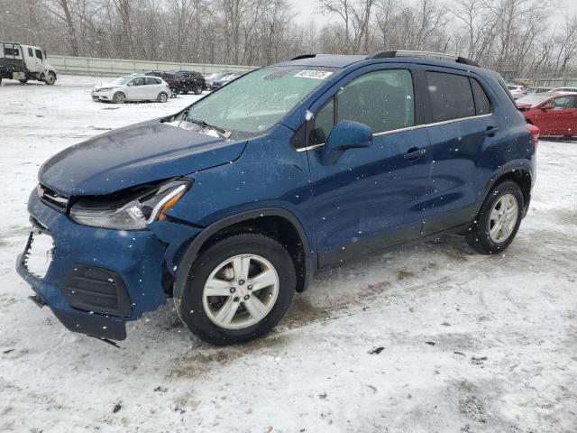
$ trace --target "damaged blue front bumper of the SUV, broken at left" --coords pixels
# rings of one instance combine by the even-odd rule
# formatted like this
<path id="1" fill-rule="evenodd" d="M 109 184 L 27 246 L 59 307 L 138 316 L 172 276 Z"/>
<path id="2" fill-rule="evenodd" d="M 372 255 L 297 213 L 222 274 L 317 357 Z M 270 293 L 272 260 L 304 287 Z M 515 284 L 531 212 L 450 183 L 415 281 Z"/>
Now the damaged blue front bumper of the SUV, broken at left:
<path id="1" fill-rule="evenodd" d="M 123 340 L 125 323 L 162 305 L 170 294 L 179 254 L 200 228 L 168 220 L 148 230 L 81 226 L 32 192 L 28 203 L 32 233 L 17 272 L 71 331 Z M 45 274 L 28 259 L 34 238 L 51 237 L 53 249 Z"/>

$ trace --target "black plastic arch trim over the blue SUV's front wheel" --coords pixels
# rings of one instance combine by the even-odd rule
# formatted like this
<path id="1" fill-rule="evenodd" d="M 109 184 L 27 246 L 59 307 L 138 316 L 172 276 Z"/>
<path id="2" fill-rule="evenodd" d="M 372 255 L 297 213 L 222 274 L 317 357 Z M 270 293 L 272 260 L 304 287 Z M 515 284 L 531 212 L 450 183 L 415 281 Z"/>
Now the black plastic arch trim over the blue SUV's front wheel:
<path id="1" fill-rule="evenodd" d="M 289 223 L 295 228 L 298 233 L 301 244 L 305 251 L 305 282 L 303 288 L 300 291 L 307 289 L 308 283 L 311 280 L 312 274 L 314 272 L 314 261 L 313 253 L 310 249 L 310 244 L 308 242 L 307 232 L 300 224 L 298 217 L 289 210 L 282 207 L 264 207 L 260 209 L 252 209 L 246 212 L 235 214 L 230 217 L 224 217 L 212 223 L 200 232 L 193 240 L 188 244 L 185 253 L 179 260 L 179 268 L 176 274 L 176 279 L 174 281 L 174 297 L 179 297 L 184 290 L 187 278 L 188 270 L 194 261 L 197 259 L 198 252 L 206 241 L 215 233 L 223 230 L 228 226 L 233 226 L 234 224 L 242 223 L 244 221 L 250 221 L 252 219 L 257 219 L 260 217 L 282 217 L 289 221 Z"/>

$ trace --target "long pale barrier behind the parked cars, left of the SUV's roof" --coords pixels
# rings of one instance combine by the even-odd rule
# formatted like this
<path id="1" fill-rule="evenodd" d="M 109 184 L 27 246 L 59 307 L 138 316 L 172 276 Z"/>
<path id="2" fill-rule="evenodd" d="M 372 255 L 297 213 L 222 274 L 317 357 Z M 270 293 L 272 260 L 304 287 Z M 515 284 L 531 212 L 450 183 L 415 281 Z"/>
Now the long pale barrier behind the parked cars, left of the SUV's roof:
<path id="1" fill-rule="evenodd" d="M 96 59 L 91 57 L 72 57 L 49 55 L 48 61 L 58 73 L 119 76 L 140 72 L 143 70 L 194 70 L 203 75 L 210 75 L 219 70 L 234 72 L 248 72 L 258 66 L 241 65 L 211 65 L 203 63 L 179 63 L 169 61 L 124 60 L 124 59 Z"/>

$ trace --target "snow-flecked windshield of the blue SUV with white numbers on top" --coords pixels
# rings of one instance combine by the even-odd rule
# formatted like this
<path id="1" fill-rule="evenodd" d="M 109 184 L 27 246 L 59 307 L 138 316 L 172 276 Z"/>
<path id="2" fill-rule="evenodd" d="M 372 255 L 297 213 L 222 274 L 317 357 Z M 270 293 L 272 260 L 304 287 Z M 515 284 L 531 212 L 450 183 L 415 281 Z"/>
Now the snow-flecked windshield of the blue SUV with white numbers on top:
<path id="1" fill-rule="evenodd" d="M 294 66 L 257 69 L 190 106 L 185 120 L 259 134 L 279 122 L 334 70 Z"/>

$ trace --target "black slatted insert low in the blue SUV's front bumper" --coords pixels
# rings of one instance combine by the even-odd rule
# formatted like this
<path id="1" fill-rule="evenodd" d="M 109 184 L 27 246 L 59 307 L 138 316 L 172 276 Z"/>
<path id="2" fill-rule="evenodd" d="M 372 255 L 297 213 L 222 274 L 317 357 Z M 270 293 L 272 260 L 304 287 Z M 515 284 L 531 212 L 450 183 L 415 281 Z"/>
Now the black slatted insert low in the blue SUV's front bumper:
<path id="1" fill-rule="evenodd" d="M 132 314 L 128 290 L 116 272 L 78 265 L 62 290 L 70 307 L 127 318 Z"/>

